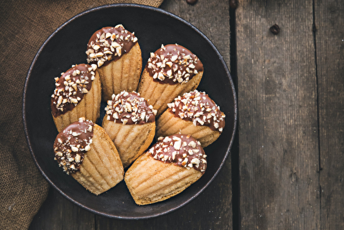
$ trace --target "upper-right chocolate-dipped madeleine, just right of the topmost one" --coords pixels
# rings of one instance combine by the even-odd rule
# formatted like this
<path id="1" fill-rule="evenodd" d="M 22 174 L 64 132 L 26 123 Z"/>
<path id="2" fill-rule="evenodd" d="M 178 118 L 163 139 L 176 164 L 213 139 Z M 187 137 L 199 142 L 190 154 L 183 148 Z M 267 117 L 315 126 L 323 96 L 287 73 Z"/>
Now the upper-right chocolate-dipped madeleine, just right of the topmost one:
<path id="1" fill-rule="evenodd" d="M 175 97 L 195 90 L 202 75 L 202 62 L 190 50 L 177 44 L 162 45 L 151 53 L 138 92 L 160 116 Z"/>

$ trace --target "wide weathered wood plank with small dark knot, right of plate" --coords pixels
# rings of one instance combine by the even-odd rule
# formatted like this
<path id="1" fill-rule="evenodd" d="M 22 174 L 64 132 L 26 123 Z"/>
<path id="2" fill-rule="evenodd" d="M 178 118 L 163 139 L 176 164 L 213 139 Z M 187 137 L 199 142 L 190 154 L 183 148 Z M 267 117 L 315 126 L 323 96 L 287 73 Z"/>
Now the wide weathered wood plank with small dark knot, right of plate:
<path id="1" fill-rule="evenodd" d="M 236 17 L 241 228 L 319 229 L 312 1 L 239 1 Z"/>

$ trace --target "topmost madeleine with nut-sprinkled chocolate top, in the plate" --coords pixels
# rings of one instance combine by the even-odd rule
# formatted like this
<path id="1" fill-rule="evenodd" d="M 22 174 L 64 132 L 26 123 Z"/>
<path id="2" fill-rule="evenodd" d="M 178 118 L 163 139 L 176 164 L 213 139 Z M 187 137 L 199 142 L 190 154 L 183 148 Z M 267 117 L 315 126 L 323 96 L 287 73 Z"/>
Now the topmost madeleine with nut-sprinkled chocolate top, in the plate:
<path id="1" fill-rule="evenodd" d="M 87 62 L 96 65 L 103 87 L 103 100 L 123 90 L 135 91 L 140 81 L 142 55 L 137 37 L 123 25 L 102 28 L 87 44 Z"/>

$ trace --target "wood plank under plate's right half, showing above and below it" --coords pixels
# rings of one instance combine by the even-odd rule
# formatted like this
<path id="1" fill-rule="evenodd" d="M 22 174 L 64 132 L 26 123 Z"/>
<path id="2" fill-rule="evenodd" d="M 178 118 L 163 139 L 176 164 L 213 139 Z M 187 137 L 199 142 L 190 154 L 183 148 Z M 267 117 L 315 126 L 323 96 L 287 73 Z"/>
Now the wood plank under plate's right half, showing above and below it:
<path id="1" fill-rule="evenodd" d="M 214 43 L 230 64 L 229 1 L 164 1 L 162 9 L 189 21 Z M 200 196 L 173 213 L 150 220 L 126 221 L 97 216 L 97 229 L 232 229 L 230 157 L 217 178 Z"/>

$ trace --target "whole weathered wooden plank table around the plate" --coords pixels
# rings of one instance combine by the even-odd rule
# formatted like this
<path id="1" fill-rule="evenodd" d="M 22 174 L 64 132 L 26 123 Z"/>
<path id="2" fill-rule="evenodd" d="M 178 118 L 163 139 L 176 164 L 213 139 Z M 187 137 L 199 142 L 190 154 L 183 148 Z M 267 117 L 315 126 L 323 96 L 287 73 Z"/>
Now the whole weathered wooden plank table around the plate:
<path id="1" fill-rule="evenodd" d="M 230 67 L 239 105 L 230 158 L 173 213 L 104 218 L 50 189 L 30 229 L 344 229 L 344 1 L 161 8 L 204 32 Z"/>

